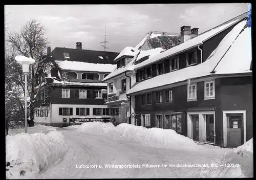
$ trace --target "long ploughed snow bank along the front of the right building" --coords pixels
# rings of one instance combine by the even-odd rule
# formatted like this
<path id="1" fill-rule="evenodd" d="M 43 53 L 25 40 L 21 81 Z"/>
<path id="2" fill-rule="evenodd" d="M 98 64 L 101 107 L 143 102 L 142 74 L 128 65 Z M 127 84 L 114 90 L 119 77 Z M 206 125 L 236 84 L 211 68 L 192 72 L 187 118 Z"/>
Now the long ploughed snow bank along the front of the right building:
<path id="1" fill-rule="evenodd" d="M 79 132 L 86 132 L 93 135 L 104 135 L 113 139 L 134 141 L 152 147 L 170 147 L 176 149 L 195 149 L 197 143 L 181 136 L 172 129 L 151 128 L 122 123 L 115 127 L 112 123 L 90 122 L 80 125 Z"/>

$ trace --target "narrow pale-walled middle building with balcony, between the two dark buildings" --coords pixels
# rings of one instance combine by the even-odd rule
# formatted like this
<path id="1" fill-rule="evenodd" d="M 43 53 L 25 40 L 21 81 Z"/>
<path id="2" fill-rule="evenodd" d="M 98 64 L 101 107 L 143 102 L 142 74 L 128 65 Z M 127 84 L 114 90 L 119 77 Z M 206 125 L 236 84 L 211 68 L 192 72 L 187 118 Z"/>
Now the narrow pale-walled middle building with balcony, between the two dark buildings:
<path id="1" fill-rule="evenodd" d="M 134 121 L 134 118 L 130 119 L 130 115 L 134 114 L 135 100 L 134 97 L 132 99 L 127 97 L 126 92 L 136 79 L 135 72 L 129 71 L 129 68 L 179 43 L 180 37 L 177 34 L 150 31 L 135 48 L 124 48 L 115 58 L 116 70 L 106 76 L 102 82 L 108 83 L 108 101 L 105 104 L 110 108 L 110 116 L 118 123 Z"/>

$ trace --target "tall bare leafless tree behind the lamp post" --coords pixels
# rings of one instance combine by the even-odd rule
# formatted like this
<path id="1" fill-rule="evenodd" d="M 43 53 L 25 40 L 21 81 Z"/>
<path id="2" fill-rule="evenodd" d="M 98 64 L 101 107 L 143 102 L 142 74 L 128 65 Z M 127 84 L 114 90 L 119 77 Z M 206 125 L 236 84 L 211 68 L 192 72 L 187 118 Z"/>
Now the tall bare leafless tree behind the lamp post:
<path id="1" fill-rule="evenodd" d="M 49 66 L 49 63 L 45 61 L 47 56 L 44 52 L 49 43 L 45 36 L 46 30 L 44 26 L 38 23 L 35 19 L 28 21 L 27 24 L 21 28 L 20 32 L 10 32 L 7 35 L 7 41 L 19 55 L 27 57 L 30 56 L 31 58 L 35 59 L 35 63 L 30 65 L 30 73 L 28 75 L 28 97 L 30 98 L 30 107 L 28 109 L 31 120 L 29 122 L 29 126 L 34 125 L 34 103 L 39 90 L 39 88 L 35 88 L 35 77 L 40 70 L 44 70 Z M 22 67 L 17 63 L 16 65 L 16 84 L 22 87 L 23 92 L 25 92 L 25 82 Z"/>

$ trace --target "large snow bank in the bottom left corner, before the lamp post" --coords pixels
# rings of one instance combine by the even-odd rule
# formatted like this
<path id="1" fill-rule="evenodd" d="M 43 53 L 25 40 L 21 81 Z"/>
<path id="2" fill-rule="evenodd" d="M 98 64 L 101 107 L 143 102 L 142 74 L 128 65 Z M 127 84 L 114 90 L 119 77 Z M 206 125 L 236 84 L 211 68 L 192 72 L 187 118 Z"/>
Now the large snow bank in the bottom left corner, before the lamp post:
<path id="1" fill-rule="evenodd" d="M 59 162 L 67 151 L 64 137 L 56 129 L 7 136 L 6 176 L 35 178 L 39 172 Z"/>

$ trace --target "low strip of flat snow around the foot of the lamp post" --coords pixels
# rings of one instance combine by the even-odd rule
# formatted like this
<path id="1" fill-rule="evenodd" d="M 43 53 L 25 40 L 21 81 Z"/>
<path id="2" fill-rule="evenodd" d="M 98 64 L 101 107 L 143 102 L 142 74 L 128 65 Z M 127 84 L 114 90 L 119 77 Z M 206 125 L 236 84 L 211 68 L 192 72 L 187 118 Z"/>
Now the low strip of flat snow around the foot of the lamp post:
<path id="1" fill-rule="evenodd" d="M 44 132 L 44 131 L 48 131 L 48 130 L 56 130 L 57 127 L 52 127 L 52 126 L 45 126 L 45 125 L 40 125 L 37 124 L 34 127 L 28 127 L 28 133 L 32 134 L 35 132 Z M 22 133 L 25 132 L 25 128 L 22 129 L 9 129 L 8 130 L 8 135 L 9 136 L 14 136 L 18 133 Z"/>

